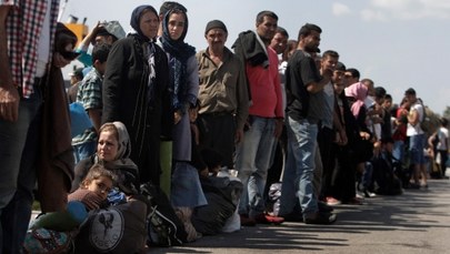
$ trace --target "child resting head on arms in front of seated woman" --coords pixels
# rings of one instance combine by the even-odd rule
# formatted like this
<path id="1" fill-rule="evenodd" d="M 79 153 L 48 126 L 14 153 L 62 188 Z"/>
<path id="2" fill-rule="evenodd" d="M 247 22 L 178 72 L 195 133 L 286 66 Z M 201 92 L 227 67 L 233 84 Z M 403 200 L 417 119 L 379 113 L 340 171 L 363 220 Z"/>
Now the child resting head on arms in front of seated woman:
<path id="1" fill-rule="evenodd" d="M 108 193 L 111 191 L 117 176 L 100 164 L 94 164 L 80 187 L 69 194 L 69 201 L 80 201 L 87 211 L 98 210 L 108 206 Z"/>

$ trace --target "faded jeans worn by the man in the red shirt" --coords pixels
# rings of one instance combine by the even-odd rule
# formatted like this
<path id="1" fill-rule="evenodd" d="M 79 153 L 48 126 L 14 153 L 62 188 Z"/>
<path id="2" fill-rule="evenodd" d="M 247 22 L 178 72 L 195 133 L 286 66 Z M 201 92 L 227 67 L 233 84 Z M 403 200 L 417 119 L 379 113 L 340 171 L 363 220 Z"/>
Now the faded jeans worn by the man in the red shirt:
<path id="1" fill-rule="evenodd" d="M 239 214 L 256 216 L 266 210 L 263 193 L 276 142 L 276 119 L 250 115 L 249 120 L 250 130 L 237 148 L 236 167 L 243 185 Z"/>

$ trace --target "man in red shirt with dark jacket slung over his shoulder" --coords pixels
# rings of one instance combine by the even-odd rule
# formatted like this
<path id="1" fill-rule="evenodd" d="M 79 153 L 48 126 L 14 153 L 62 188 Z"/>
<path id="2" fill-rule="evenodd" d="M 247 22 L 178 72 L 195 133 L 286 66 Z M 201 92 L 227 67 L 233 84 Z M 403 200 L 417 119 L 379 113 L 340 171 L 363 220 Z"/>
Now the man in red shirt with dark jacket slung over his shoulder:
<path id="1" fill-rule="evenodd" d="M 263 191 L 273 144 L 282 130 L 282 95 L 278 57 L 269 47 L 277 30 L 272 11 L 257 16 L 256 31 L 241 32 L 232 48 L 244 62 L 251 105 L 243 141 L 238 145 L 236 167 L 243 184 L 239 205 L 241 224 L 281 223 L 281 217 L 264 214 Z"/>

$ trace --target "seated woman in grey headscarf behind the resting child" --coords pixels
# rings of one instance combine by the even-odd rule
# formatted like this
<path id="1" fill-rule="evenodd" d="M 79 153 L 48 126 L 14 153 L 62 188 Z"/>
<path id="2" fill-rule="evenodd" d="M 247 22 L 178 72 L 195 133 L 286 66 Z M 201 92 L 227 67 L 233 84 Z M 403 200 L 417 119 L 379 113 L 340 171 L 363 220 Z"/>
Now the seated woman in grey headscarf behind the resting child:
<path id="1" fill-rule="evenodd" d="M 130 153 L 130 138 L 123 123 L 104 123 L 99 130 L 97 153 L 76 165 L 71 192 L 80 186 L 81 181 L 88 175 L 89 169 L 98 163 L 117 175 L 117 186 L 121 192 L 128 195 L 138 194 L 138 166 L 129 159 Z"/>

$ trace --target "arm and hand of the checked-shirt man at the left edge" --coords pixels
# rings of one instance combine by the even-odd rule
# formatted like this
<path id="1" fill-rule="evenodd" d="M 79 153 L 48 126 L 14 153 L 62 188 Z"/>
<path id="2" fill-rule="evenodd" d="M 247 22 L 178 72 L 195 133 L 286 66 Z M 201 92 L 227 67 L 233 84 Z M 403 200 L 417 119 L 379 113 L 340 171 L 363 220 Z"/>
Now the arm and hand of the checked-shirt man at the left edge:
<path id="1" fill-rule="evenodd" d="M 11 7 L 0 6 L 0 119 L 17 121 L 19 118 L 19 92 L 12 83 L 8 58 L 7 17 Z"/>

